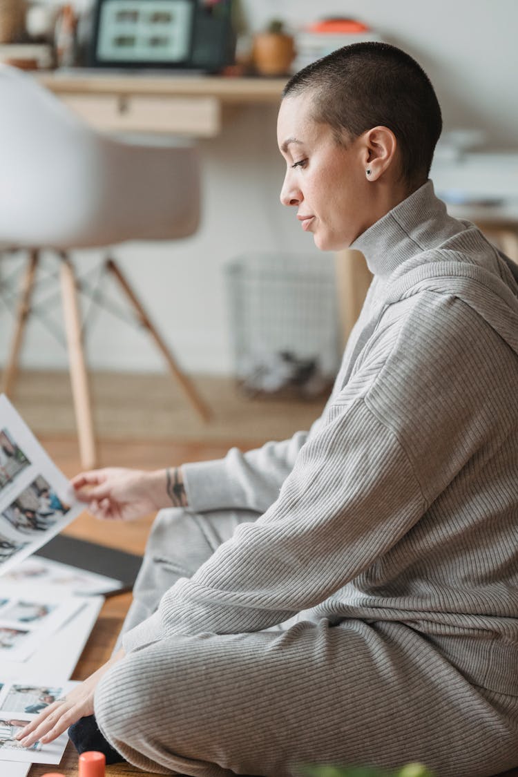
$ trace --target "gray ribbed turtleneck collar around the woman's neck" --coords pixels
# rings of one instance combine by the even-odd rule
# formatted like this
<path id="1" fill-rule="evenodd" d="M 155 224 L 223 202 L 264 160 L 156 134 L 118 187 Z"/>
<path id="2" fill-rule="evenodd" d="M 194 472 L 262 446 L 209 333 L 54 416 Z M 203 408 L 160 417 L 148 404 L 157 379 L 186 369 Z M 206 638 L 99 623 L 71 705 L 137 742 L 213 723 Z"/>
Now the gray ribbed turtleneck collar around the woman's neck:
<path id="1" fill-rule="evenodd" d="M 350 246 L 361 251 L 372 274 L 388 277 L 416 253 L 439 246 L 461 232 L 461 221 L 447 214 L 431 180 L 388 211 Z"/>

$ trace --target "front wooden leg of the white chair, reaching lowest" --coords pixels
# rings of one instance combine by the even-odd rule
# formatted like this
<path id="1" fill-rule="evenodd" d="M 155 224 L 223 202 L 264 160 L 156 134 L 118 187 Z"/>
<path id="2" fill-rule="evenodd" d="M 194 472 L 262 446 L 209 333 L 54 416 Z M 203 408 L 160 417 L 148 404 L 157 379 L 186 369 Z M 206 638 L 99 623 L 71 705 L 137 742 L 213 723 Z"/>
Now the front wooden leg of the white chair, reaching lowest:
<path id="1" fill-rule="evenodd" d="M 82 467 L 96 466 L 96 440 L 93 430 L 88 373 L 82 345 L 81 317 L 75 291 L 75 276 L 70 260 L 61 255 L 61 298 L 63 300 L 64 330 L 67 336 L 68 364 L 72 395 L 74 397 L 75 423 L 78 429 L 79 455 Z"/>

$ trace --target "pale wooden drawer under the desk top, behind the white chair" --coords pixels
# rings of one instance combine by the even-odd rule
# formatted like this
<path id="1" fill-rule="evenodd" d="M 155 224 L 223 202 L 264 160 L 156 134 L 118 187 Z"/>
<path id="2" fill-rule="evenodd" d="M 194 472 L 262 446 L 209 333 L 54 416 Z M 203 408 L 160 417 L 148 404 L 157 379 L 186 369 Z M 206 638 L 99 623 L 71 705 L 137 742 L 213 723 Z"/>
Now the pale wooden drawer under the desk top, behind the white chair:
<path id="1" fill-rule="evenodd" d="M 63 95 L 71 110 L 92 127 L 111 132 L 170 132 L 214 138 L 221 131 L 215 97 Z"/>

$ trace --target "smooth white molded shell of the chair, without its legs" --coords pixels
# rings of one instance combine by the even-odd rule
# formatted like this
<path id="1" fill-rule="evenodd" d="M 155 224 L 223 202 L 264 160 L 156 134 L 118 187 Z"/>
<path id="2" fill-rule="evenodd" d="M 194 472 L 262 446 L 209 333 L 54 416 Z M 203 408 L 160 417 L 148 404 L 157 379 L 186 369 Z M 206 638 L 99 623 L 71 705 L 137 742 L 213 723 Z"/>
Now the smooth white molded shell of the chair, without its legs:
<path id="1" fill-rule="evenodd" d="M 192 235 L 196 148 L 92 130 L 33 76 L 0 65 L 0 242 L 68 249 Z"/>

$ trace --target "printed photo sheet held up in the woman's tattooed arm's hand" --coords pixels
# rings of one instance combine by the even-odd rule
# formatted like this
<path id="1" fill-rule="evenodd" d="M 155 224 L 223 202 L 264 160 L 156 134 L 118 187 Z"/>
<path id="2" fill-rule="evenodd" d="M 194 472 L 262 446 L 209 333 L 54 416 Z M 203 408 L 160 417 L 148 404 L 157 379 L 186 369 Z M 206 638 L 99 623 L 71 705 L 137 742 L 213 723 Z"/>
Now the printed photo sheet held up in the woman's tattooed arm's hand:
<path id="1" fill-rule="evenodd" d="M 82 512 L 71 486 L 0 395 L 0 575 Z"/>

